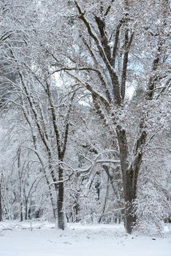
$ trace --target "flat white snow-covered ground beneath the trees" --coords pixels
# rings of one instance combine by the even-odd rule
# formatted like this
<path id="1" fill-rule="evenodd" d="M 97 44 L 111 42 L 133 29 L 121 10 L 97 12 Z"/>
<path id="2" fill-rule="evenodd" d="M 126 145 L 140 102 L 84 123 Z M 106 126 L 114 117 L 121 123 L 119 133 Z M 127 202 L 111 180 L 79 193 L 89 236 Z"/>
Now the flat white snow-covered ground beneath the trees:
<path id="1" fill-rule="evenodd" d="M 122 225 L 1 222 L 0 256 L 170 256 L 171 226 L 164 238 L 126 235 Z"/>

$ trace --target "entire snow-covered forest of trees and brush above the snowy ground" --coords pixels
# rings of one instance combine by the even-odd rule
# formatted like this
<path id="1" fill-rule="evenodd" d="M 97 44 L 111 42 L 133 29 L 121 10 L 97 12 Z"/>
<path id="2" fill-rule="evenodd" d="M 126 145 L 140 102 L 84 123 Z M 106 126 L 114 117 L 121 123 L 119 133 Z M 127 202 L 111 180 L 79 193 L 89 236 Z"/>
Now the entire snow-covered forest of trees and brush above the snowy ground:
<path id="1" fill-rule="evenodd" d="M 0 221 L 171 216 L 170 1 L 0 1 Z"/>

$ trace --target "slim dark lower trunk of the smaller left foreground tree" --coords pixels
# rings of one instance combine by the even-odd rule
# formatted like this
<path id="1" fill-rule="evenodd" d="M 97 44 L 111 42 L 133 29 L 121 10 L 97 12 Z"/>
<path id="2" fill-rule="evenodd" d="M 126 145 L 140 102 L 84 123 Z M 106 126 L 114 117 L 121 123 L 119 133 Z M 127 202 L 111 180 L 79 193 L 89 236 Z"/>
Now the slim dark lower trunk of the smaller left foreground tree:
<path id="1" fill-rule="evenodd" d="M 58 228 L 64 230 L 64 182 L 63 182 L 63 168 L 59 165 L 58 167 Z M 60 182 L 61 181 L 61 182 Z"/>

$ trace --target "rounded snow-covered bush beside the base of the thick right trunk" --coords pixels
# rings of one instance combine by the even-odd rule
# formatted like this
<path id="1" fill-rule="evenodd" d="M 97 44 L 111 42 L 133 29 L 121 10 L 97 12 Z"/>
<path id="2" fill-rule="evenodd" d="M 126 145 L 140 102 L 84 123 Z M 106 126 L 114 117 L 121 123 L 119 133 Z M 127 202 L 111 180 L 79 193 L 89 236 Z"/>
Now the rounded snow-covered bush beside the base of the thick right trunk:
<path id="1" fill-rule="evenodd" d="M 162 236 L 164 234 L 164 219 L 167 217 L 167 198 L 153 184 L 144 184 L 135 201 L 137 233 L 150 236 Z"/>

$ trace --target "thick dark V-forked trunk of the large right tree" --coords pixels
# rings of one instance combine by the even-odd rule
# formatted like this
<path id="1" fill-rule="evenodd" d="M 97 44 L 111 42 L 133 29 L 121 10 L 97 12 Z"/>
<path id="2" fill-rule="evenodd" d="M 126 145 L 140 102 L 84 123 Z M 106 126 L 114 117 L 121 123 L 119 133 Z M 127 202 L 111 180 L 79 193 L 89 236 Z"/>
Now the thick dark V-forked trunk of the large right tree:
<path id="1" fill-rule="evenodd" d="M 142 129 L 142 121 L 140 122 Z M 116 127 L 118 147 L 120 150 L 121 172 L 123 181 L 123 197 L 125 201 L 125 227 L 127 233 L 132 233 L 136 224 L 136 214 L 134 212 L 134 200 L 137 197 L 137 178 L 142 162 L 142 151 L 145 146 L 147 133 L 142 129 L 136 141 L 132 162 L 129 161 L 129 147 L 126 140 L 126 132 L 121 126 Z"/>

